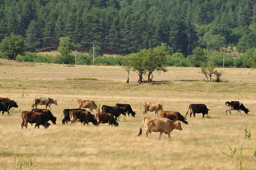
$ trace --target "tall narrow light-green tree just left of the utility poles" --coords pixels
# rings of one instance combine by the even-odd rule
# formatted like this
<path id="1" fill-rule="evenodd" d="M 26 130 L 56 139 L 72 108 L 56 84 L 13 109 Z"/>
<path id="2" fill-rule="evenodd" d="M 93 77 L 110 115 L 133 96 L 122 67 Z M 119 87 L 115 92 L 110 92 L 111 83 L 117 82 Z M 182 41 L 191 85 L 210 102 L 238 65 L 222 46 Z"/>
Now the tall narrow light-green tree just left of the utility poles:
<path id="1" fill-rule="evenodd" d="M 57 51 L 61 53 L 61 60 L 63 63 L 71 63 L 73 61 L 72 56 L 70 55 L 72 52 L 72 48 L 74 46 L 73 42 L 70 42 L 69 37 L 60 37 L 60 46 L 58 46 Z"/>

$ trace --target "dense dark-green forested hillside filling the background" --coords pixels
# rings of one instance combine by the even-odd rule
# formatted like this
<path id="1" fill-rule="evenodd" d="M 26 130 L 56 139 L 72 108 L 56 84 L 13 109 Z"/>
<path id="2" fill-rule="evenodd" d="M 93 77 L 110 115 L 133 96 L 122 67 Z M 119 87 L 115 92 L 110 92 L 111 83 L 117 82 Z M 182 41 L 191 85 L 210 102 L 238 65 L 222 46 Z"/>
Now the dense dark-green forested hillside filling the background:
<path id="1" fill-rule="evenodd" d="M 162 42 L 185 56 L 196 46 L 238 52 L 256 45 L 254 0 L 1 0 L 0 40 L 22 35 L 30 49 L 57 46 L 67 36 L 109 54 L 129 54 Z"/>

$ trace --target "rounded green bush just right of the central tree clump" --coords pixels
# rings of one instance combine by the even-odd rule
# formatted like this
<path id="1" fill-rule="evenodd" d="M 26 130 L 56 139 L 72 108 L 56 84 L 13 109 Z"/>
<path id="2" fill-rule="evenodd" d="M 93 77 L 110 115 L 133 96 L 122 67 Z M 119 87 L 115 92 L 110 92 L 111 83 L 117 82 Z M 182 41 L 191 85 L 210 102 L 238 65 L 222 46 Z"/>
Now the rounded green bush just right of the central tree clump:
<path id="1" fill-rule="evenodd" d="M 189 67 L 190 62 L 185 58 L 182 53 L 174 53 L 171 57 L 168 57 L 166 60 L 167 66 L 175 67 Z"/>

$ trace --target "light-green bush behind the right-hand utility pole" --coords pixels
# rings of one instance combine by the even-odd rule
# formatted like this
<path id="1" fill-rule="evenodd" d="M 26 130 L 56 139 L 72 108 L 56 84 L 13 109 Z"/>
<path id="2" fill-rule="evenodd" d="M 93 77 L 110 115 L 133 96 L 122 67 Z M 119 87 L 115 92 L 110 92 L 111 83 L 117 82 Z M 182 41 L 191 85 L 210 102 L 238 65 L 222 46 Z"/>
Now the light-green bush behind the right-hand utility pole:
<path id="1" fill-rule="evenodd" d="M 208 62 L 213 62 L 216 67 L 223 67 L 223 54 L 222 53 L 211 54 L 208 58 Z M 234 66 L 234 59 L 232 56 L 225 55 L 224 66 L 225 67 Z"/>

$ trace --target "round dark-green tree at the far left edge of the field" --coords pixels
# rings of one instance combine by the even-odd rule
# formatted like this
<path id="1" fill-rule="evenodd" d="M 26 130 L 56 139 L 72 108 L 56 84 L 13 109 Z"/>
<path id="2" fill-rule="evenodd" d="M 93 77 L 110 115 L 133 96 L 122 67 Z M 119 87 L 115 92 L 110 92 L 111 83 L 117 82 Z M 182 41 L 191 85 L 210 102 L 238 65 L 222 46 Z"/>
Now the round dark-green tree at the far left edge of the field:
<path id="1" fill-rule="evenodd" d="M 5 37 L 0 44 L 0 52 L 6 53 L 7 59 L 15 59 L 18 54 L 23 55 L 27 51 L 27 45 L 20 35 Z"/>

